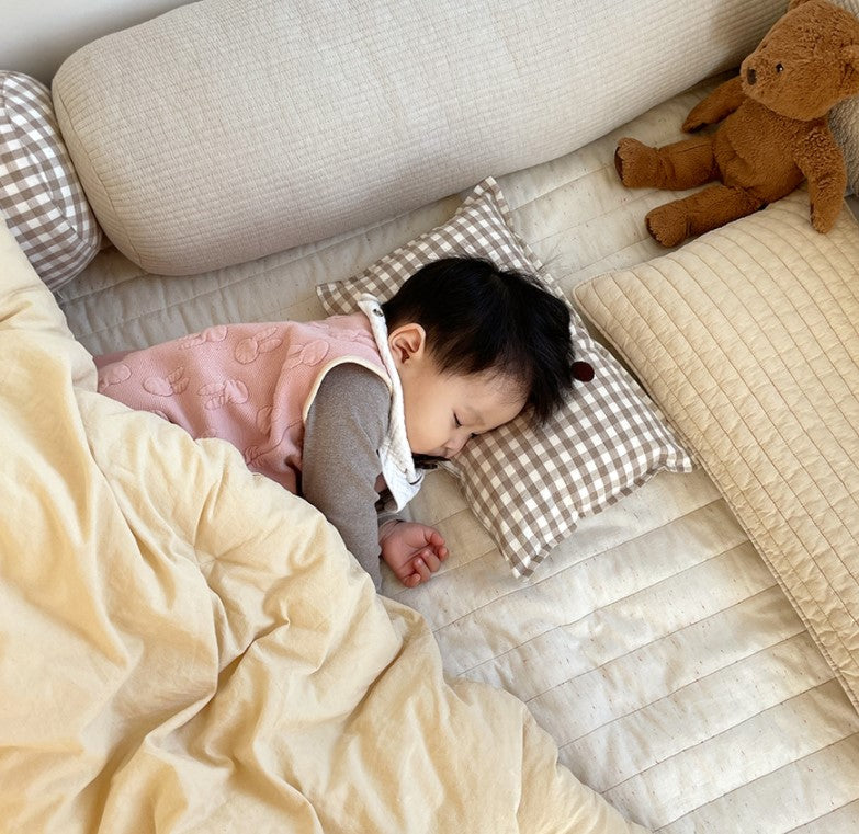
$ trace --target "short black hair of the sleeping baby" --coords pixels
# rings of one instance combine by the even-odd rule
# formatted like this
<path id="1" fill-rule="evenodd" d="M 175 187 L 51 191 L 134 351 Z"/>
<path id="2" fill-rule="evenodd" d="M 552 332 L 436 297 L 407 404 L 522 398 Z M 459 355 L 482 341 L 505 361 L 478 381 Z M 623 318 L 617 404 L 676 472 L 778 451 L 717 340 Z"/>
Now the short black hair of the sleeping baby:
<path id="1" fill-rule="evenodd" d="M 417 322 L 439 370 L 509 375 L 545 422 L 573 388 L 569 309 L 536 278 L 477 258 L 432 261 L 382 305 L 388 330 Z"/>

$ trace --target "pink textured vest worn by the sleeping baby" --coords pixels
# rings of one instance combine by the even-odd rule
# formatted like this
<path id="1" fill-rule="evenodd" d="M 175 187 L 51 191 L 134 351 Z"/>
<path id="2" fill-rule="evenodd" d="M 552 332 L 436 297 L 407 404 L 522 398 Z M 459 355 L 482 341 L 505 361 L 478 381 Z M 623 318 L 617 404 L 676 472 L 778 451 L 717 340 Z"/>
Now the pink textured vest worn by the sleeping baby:
<path id="1" fill-rule="evenodd" d="M 229 441 L 250 469 L 297 493 L 304 421 L 325 375 L 344 362 L 391 388 L 370 323 L 358 312 L 208 328 L 104 365 L 99 391 L 195 438 Z"/>

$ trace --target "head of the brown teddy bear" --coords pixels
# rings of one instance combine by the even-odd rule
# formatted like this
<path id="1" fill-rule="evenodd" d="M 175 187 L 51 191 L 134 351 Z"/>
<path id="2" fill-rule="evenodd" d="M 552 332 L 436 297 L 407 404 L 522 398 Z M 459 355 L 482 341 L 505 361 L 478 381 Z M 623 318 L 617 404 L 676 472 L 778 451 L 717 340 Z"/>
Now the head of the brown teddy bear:
<path id="1" fill-rule="evenodd" d="M 739 68 L 743 91 L 788 118 L 821 118 L 859 93 L 859 20 L 828 0 L 792 0 Z"/>

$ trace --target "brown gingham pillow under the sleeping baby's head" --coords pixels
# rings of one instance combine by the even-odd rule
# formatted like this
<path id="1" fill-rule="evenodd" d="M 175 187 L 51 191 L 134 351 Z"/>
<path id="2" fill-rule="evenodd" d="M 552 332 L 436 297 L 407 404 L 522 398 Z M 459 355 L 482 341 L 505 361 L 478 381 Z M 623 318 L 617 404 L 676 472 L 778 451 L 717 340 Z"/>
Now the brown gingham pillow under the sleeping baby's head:
<path id="1" fill-rule="evenodd" d="M 317 293 L 329 313 L 350 312 L 362 293 L 386 300 L 425 263 L 456 254 L 538 275 L 564 297 L 512 231 L 509 208 L 491 179 L 477 185 L 443 226 L 353 278 L 318 286 Z M 445 464 L 518 576 L 530 575 L 581 516 L 599 512 L 660 469 L 692 469 L 691 457 L 656 407 L 570 312 L 576 358 L 594 366 L 594 380 L 577 382 L 570 400 L 546 425 L 532 425 L 520 415 L 470 441 Z"/>

